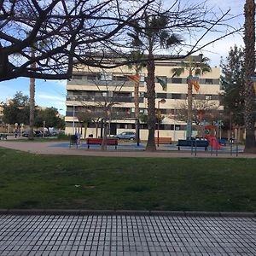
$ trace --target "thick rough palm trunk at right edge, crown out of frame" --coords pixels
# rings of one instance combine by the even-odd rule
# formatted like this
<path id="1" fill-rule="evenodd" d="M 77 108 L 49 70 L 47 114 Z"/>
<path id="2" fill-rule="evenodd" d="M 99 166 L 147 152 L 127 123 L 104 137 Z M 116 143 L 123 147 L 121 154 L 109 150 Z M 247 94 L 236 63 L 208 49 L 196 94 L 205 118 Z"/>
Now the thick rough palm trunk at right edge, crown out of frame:
<path id="1" fill-rule="evenodd" d="M 244 152 L 256 153 L 256 143 L 254 134 L 253 104 L 255 95 L 253 92 L 253 77 L 255 70 L 255 2 L 246 0 L 244 6 L 245 13 L 245 111 L 244 119 L 246 126 L 246 143 Z"/>

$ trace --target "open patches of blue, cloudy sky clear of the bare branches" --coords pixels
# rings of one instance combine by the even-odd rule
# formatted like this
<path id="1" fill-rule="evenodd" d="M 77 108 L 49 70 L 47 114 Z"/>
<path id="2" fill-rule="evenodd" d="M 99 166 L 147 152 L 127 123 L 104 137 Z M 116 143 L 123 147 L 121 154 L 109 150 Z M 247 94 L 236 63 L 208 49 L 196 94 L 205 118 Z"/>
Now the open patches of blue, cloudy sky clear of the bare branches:
<path id="1" fill-rule="evenodd" d="M 170 0 L 164 0 L 166 3 L 170 3 Z M 194 2 L 196 0 L 182 0 L 187 3 Z M 232 26 L 243 25 L 243 6 L 245 0 L 211 0 L 208 2 L 210 7 L 213 7 L 218 11 L 222 9 L 223 11 L 227 9 L 230 10 L 230 15 L 239 15 L 235 20 L 232 20 Z M 214 35 L 211 35 L 214 36 Z M 210 37 L 210 36 L 209 36 Z M 207 38 L 207 40 L 209 39 Z M 236 34 L 228 38 L 224 38 L 214 44 L 207 46 L 205 50 L 202 51 L 203 55 L 207 56 L 211 61 L 210 65 L 212 67 L 218 67 L 220 62 L 220 57 L 226 57 L 234 44 L 238 46 L 243 46 L 242 35 Z M 41 79 L 36 80 L 36 95 L 35 101 L 38 106 L 42 107 L 54 107 L 59 110 L 59 112 L 65 115 L 66 112 L 66 84 L 67 81 L 44 81 Z M 21 91 L 24 95 L 29 96 L 29 79 L 20 78 L 13 79 L 9 81 L 0 82 L 0 102 L 6 102 L 8 99 L 12 98 L 17 91 Z"/>

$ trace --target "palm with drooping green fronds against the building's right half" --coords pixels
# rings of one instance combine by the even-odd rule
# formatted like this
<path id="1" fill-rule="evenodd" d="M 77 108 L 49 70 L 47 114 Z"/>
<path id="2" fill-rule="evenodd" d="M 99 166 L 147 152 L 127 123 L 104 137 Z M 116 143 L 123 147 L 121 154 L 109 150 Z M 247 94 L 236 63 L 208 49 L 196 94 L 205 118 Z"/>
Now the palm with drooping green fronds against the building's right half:
<path id="1" fill-rule="evenodd" d="M 192 101 L 193 101 L 193 84 L 191 78 L 194 76 L 199 76 L 203 73 L 211 72 L 211 67 L 207 63 L 209 59 L 207 57 L 202 57 L 200 55 L 201 61 L 197 61 L 195 56 L 189 56 L 186 58 L 185 61 L 181 62 L 181 67 L 172 68 L 172 78 L 177 76 L 179 77 L 185 71 L 189 73 L 188 81 L 188 118 L 187 118 L 187 125 L 188 125 L 188 133 L 187 138 L 191 138 L 192 135 Z M 199 88 L 197 89 L 199 90 Z"/>

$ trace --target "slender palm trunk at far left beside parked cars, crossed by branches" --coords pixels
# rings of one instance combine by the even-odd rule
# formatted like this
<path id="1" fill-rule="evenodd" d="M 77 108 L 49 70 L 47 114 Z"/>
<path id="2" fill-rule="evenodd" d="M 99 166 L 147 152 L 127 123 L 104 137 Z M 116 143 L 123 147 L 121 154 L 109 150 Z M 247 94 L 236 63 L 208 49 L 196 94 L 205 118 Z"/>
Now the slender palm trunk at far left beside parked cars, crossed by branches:
<path id="1" fill-rule="evenodd" d="M 31 57 L 32 59 L 35 58 L 35 50 L 31 49 Z M 36 68 L 36 63 L 31 64 L 31 68 Z M 34 139 L 34 123 L 35 123 L 35 87 L 36 87 L 36 79 L 30 78 L 30 84 L 29 84 L 29 140 Z"/>

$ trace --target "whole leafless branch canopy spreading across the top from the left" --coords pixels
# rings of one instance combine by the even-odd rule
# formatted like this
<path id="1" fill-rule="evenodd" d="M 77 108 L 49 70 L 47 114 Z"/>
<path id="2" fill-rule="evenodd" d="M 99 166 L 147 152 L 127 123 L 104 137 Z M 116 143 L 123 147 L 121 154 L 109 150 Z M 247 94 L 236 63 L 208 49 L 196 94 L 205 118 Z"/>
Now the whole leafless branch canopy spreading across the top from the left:
<path id="1" fill-rule="evenodd" d="M 205 1 L 188 7 L 179 0 L 169 9 L 162 10 L 157 2 L 0 1 L 0 81 L 18 77 L 70 79 L 76 63 L 108 68 L 123 65 L 124 62 L 106 65 L 102 55 L 129 52 L 131 44 L 127 44 L 127 31 L 131 27 L 137 29 L 144 26 L 140 20 L 148 10 L 148 18 L 155 25 L 151 27 L 151 35 L 160 25 L 155 17 L 161 13 L 164 17 L 162 21 L 168 20 L 172 35 L 188 36 L 190 43 L 184 41 L 175 50 L 175 57 L 190 55 L 218 38 L 236 32 L 235 28 L 224 26 L 229 10 L 217 15 L 207 8 Z M 211 32 L 221 33 L 214 39 L 203 41 Z M 155 34 L 154 37 L 161 38 L 161 42 L 166 44 L 173 43 L 173 38 L 167 38 L 165 33 Z M 33 57 L 31 49 L 35 53 Z M 35 67 L 31 67 L 32 63 L 36 63 Z"/>

